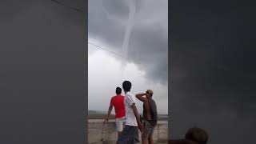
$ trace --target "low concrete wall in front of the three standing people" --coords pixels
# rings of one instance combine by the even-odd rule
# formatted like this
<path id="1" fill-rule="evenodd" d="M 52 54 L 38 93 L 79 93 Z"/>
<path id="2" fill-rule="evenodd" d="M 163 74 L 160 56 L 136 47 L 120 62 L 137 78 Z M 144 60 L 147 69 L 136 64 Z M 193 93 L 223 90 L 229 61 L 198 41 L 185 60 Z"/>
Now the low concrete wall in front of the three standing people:
<path id="1" fill-rule="evenodd" d="M 139 132 L 139 137 L 141 133 Z M 115 131 L 114 120 L 109 120 L 103 125 L 103 119 L 88 120 L 88 143 L 89 144 L 115 144 L 118 133 Z M 155 143 L 167 143 L 168 123 L 167 121 L 159 121 L 158 126 L 154 129 Z M 141 138 L 140 138 L 141 140 Z"/>

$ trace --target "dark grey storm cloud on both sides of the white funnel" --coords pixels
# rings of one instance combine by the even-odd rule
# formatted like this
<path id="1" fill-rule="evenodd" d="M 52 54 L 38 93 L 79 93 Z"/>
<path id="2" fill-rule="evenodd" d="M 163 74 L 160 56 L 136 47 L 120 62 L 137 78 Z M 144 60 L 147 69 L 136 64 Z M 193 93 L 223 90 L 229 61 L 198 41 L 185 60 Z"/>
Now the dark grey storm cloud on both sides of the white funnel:
<path id="1" fill-rule="evenodd" d="M 152 18 L 149 17 L 150 21 L 158 21 L 158 23 L 146 26 L 139 24 L 140 21 L 143 22 L 142 15 L 136 14 L 137 18 L 134 19 L 134 26 L 130 35 L 128 61 L 136 63 L 140 69 L 145 70 L 146 77 L 153 78 L 155 82 L 166 83 L 167 27 L 161 25 L 161 20 L 167 19 L 167 7 L 160 9 L 161 5 L 158 5 L 158 2 L 148 1 L 150 4 L 147 3 L 147 5 L 153 6 L 153 9 L 141 11 L 146 3 L 143 2 L 138 1 L 136 3 L 138 13 L 144 12 L 144 17 L 147 17 L 149 15 L 147 13 L 152 11 Z M 162 3 L 167 4 L 167 1 L 162 1 Z M 108 14 L 104 10 L 107 10 Z M 161 10 L 163 12 L 157 14 Z M 157 16 L 153 16 L 154 11 L 156 11 Z M 129 9 L 128 6 L 124 5 L 124 1 L 108 0 L 103 1 L 103 3 L 100 0 L 89 1 L 89 37 L 101 39 L 102 42 L 117 47 L 118 51 L 121 51 L 128 14 Z M 109 47 L 109 49 L 114 48 Z"/>

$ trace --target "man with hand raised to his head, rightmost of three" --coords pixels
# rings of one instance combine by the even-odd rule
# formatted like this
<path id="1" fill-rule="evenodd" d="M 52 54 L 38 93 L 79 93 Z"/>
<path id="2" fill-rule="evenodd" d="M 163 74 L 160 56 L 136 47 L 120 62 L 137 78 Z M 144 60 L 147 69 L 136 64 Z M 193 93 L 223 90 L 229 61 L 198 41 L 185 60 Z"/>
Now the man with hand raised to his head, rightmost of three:
<path id="1" fill-rule="evenodd" d="M 146 98 L 144 97 L 146 96 Z M 153 91 L 146 90 L 145 94 L 136 94 L 136 98 L 143 102 L 143 118 L 142 118 L 142 144 L 153 144 L 154 126 L 158 121 L 157 106 L 152 99 Z"/>

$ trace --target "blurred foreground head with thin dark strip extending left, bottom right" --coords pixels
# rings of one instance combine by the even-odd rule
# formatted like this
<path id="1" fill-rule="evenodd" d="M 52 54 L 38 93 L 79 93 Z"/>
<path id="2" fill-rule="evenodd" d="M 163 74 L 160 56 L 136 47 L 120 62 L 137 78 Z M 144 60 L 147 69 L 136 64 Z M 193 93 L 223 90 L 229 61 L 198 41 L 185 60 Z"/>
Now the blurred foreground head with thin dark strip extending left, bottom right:
<path id="1" fill-rule="evenodd" d="M 190 128 L 185 135 L 185 139 L 170 140 L 169 144 L 206 144 L 208 134 L 198 127 Z"/>

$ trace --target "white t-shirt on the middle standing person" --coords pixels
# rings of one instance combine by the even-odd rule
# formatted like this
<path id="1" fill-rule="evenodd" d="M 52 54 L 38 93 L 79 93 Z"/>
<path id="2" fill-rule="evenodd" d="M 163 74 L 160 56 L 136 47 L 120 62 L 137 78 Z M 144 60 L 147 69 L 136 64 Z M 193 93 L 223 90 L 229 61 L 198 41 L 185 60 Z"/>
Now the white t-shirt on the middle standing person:
<path id="1" fill-rule="evenodd" d="M 131 92 L 126 93 L 125 97 L 125 107 L 126 107 L 126 125 L 128 126 L 138 126 L 136 117 L 134 115 L 134 110 L 131 108 L 131 105 L 135 103 L 135 96 Z"/>

